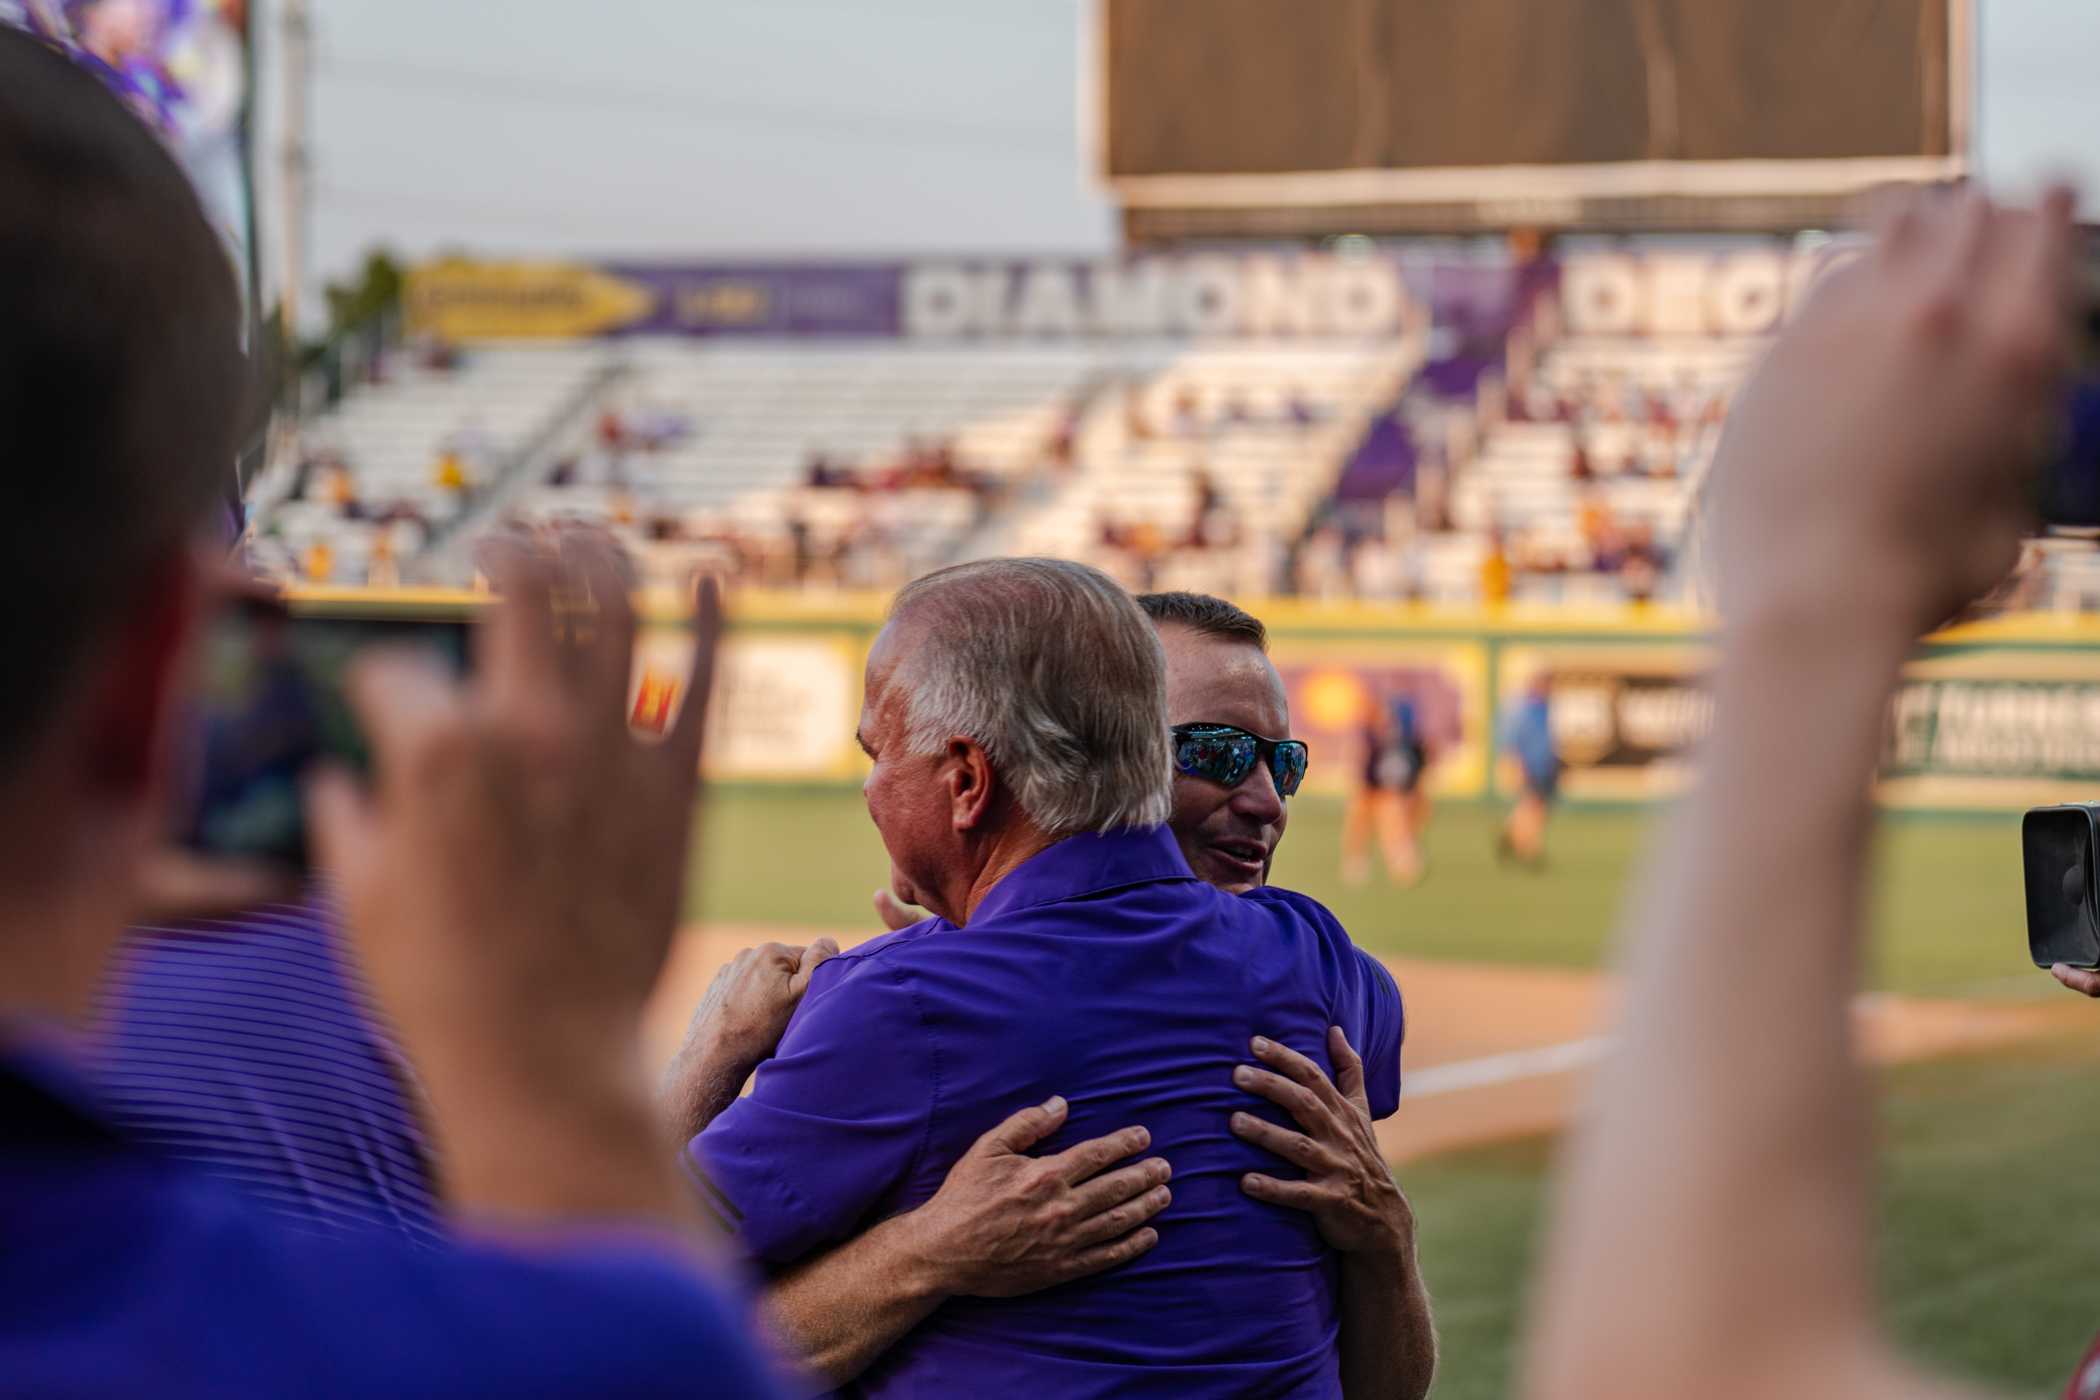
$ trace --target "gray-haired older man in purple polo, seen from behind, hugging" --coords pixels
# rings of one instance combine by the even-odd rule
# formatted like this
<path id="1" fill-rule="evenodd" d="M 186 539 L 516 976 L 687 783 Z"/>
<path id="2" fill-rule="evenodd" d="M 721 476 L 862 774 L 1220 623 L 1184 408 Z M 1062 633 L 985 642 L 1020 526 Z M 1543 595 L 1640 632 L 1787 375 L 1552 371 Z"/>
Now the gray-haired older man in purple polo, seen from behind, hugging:
<path id="1" fill-rule="evenodd" d="M 1161 827 L 1166 665 L 1136 602 L 1060 560 L 928 575 L 869 651 L 859 739 L 897 894 L 934 917 L 813 966 L 777 1056 L 693 1142 L 743 1247 L 788 1274 L 928 1203 L 1029 1104 L 1054 1123 L 1018 1159 L 1044 1192 L 1098 1171 L 1071 1144 L 1144 1123 L 1172 1203 L 1130 1264 L 1025 1297 L 903 1270 L 920 1320 L 853 1394 L 1342 1394 L 1344 1266 L 1241 1188 L 1275 1159 L 1233 1119 L 1281 1125 L 1243 1091 L 1260 1037 L 1334 1073 L 1331 1028 L 1390 1115 L 1399 991 L 1317 903 L 1191 875 Z"/>

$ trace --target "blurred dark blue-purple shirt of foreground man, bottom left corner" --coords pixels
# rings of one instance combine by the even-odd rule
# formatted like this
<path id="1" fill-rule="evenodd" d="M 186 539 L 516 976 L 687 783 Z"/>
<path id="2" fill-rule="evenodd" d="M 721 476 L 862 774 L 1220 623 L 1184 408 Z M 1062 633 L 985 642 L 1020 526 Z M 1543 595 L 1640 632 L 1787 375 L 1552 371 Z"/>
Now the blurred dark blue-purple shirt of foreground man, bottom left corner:
<path id="1" fill-rule="evenodd" d="M 773 1396 L 743 1308 L 634 1228 L 317 1238 L 0 1041 L 4 1396 Z"/>

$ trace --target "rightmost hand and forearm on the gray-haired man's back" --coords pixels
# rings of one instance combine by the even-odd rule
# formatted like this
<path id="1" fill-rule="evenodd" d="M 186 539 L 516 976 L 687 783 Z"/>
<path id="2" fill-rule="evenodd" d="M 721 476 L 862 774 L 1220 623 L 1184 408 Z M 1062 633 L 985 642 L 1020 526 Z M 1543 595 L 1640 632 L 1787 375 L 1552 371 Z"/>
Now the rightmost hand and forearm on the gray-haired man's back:
<path id="1" fill-rule="evenodd" d="M 1266 1037 L 1254 1037 L 1252 1049 L 1266 1068 L 1241 1064 L 1233 1083 L 1283 1108 L 1302 1131 L 1252 1112 L 1235 1112 L 1233 1131 L 1302 1169 L 1304 1180 L 1250 1171 L 1239 1188 L 1306 1211 L 1342 1255 L 1342 1394 L 1422 1400 L 1436 1377 L 1436 1322 L 1415 1264 L 1415 1213 L 1371 1131 L 1363 1058 L 1340 1026 L 1327 1028 L 1334 1079 Z"/>

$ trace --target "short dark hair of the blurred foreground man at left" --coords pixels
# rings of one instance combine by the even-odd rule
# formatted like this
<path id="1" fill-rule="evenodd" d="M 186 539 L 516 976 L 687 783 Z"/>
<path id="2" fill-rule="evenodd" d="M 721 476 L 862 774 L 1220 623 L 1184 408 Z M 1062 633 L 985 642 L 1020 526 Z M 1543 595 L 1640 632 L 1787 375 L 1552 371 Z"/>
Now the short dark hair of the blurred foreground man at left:
<path id="1" fill-rule="evenodd" d="M 0 25 L 0 758 L 233 479 L 227 246 L 101 82 Z"/>

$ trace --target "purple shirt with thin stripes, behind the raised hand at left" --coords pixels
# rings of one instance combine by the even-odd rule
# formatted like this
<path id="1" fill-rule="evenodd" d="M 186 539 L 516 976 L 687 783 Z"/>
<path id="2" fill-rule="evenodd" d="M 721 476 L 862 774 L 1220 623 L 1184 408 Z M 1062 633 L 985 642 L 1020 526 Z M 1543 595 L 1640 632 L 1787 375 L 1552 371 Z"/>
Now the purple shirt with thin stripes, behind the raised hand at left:
<path id="1" fill-rule="evenodd" d="M 139 928 L 101 1003 L 103 1106 L 311 1232 L 439 1234 L 407 1064 L 332 905 Z"/>

